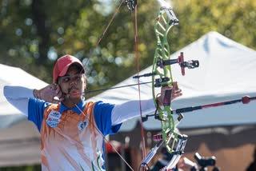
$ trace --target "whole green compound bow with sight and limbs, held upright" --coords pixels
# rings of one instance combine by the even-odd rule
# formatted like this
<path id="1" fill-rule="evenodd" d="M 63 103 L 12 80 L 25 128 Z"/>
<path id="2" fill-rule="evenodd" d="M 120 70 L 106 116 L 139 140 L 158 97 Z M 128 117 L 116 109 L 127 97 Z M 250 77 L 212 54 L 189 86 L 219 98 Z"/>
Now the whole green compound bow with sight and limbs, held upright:
<path id="1" fill-rule="evenodd" d="M 128 4 L 127 4 L 128 2 Z M 162 133 L 160 135 L 154 135 L 153 139 L 158 141 L 158 144 L 147 153 L 146 157 L 142 160 L 139 169 L 148 169 L 150 160 L 157 153 L 159 147 L 164 143 L 168 153 L 173 155 L 170 163 L 165 169 L 174 168 L 179 158 L 184 153 L 187 136 L 185 134 L 178 133 L 175 127 L 178 122 L 182 120 L 182 113 L 179 113 L 178 120 L 174 121 L 173 113 L 170 108 L 171 90 L 166 90 L 166 95 L 163 101 L 163 107 L 158 106 L 157 95 L 155 94 L 155 88 L 173 85 L 173 77 L 171 73 L 171 65 L 178 63 L 182 69 L 182 75 L 185 75 L 185 68 L 193 69 L 199 66 L 198 61 L 184 62 L 183 53 L 177 59 L 170 59 L 170 46 L 167 41 L 167 35 L 172 26 L 178 25 L 178 18 L 174 14 L 174 11 L 166 6 L 166 2 L 158 0 L 161 4 L 158 17 L 155 20 L 154 31 L 157 37 L 157 46 L 154 54 L 153 70 L 150 74 L 143 74 L 135 76 L 140 77 L 152 77 L 152 93 L 154 104 L 156 106 L 156 112 L 154 117 L 161 121 Z M 126 1 L 127 6 L 130 8 L 132 1 Z M 132 8 L 131 8 L 132 9 Z"/>

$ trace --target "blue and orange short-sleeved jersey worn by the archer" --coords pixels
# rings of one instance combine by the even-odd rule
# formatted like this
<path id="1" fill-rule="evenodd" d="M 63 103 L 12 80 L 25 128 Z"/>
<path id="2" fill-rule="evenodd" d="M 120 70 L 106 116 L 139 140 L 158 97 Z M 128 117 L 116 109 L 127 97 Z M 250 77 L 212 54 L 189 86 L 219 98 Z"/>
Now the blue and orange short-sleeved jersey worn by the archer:
<path id="1" fill-rule="evenodd" d="M 30 98 L 28 119 L 41 134 L 42 170 L 105 170 L 102 135 L 117 133 L 121 126 L 111 125 L 113 108 L 102 101 L 80 101 L 67 109 Z"/>

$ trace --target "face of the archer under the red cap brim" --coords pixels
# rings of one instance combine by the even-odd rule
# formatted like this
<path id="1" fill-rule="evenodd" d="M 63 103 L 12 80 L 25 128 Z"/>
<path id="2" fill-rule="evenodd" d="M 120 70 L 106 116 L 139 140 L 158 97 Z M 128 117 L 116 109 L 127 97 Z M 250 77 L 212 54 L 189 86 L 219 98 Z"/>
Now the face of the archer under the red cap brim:
<path id="1" fill-rule="evenodd" d="M 70 98 L 81 99 L 82 93 L 86 88 L 85 75 L 82 74 L 81 69 L 78 66 L 72 65 L 67 70 L 66 75 L 58 78 L 58 85 L 62 89 L 62 93 L 78 95 L 70 96 Z"/>

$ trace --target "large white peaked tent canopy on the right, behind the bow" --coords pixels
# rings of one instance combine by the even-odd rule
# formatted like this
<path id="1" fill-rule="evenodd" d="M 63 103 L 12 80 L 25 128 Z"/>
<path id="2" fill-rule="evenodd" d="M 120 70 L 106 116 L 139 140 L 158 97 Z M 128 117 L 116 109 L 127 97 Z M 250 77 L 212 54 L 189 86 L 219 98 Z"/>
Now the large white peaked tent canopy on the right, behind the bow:
<path id="1" fill-rule="evenodd" d="M 182 50 L 171 55 L 178 58 L 184 53 L 184 60 L 198 60 L 200 65 L 194 70 L 186 70 L 182 76 L 178 65 L 172 66 L 174 81 L 178 82 L 183 96 L 173 101 L 172 109 L 206 105 L 220 101 L 239 99 L 244 95 L 256 96 L 256 51 L 242 46 L 218 34 L 210 32 Z M 152 59 L 153 60 L 153 59 Z M 152 67 L 140 74 L 150 73 Z M 140 82 L 150 82 L 151 78 L 141 78 Z M 115 86 L 137 83 L 132 77 Z M 140 85 L 142 99 L 152 97 L 151 84 Z M 110 89 L 90 100 L 122 103 L 138 99 L 138 86 Z M 256 123 L 256 101 L 243 105 L 225 105 L 184 113 L 185 118 L 179 128 L 209 127 L 218 125 L 243 125 Z M 126 121 L 121 130 L 134 129 L 138 118 Z M 150 118 L 144 124 L 146 129 L 160 129 L 160 122 Z"/>

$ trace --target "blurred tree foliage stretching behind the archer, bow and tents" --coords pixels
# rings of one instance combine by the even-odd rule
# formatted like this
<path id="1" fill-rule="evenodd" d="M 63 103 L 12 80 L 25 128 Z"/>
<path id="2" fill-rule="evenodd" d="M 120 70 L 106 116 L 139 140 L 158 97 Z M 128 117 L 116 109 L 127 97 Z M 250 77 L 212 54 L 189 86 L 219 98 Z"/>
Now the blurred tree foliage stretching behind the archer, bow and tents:
<path id="1" fill-rule="evenodd" d="M 136 73 L 134 12 L 128 10 L 125 3 L 102 38 L 121 2 L 0 0 L 0 63 L 19 67 L 50 83 L 54 62 L 64 54 L 72 54 L 85 65 L 89 90 L 122 82 Z M 171 52 L 210 31 L 256 50 L 256 1 L 174 0 L 172 6 L 180 24 L 170 30 Z M 153 62 L 154 18 L 158 10 L 157 1 L 138 0 L 140 70 Z M 100 38 L 102 41 L 98 44 Z M 89 97 L 96 94 L 90 93 Z M 1 171 L 40 169 L 40 163 L 0 168 Z"/>

